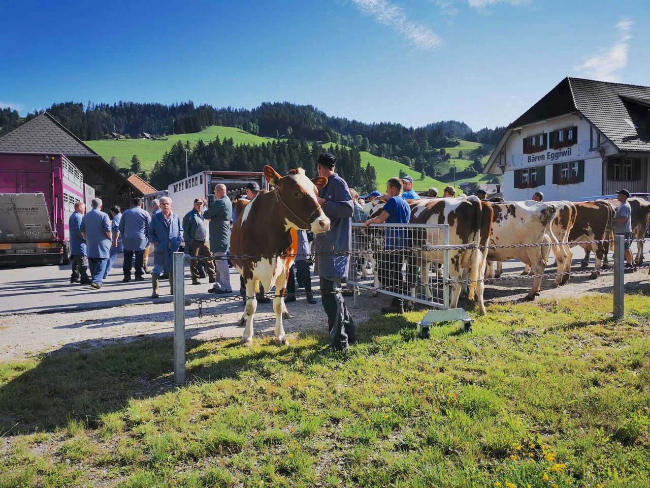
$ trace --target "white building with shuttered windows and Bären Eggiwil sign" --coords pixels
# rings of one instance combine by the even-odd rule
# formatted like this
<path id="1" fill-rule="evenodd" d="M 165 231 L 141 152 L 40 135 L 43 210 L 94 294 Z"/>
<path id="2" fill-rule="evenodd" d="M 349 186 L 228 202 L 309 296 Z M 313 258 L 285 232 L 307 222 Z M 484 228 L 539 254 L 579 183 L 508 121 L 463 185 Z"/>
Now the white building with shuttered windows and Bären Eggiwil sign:
<path id="1" fill-rule="evenodd" d="M 567 77 L 512 122 L 484 173 L 506 200 L 576 200 L 650 187 L 650 87 Z"/>

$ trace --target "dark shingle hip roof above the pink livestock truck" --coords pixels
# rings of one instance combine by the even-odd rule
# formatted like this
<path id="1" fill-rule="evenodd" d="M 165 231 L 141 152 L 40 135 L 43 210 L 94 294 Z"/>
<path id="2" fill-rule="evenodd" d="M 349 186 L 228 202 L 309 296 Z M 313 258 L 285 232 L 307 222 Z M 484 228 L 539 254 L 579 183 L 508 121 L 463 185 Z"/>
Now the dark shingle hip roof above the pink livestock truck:
<path id="1" fill-rule="evenodd" d="M 0 137 L 0 152 L 52 152 L 68 157 L 99 156 L 47 112 Z"/>

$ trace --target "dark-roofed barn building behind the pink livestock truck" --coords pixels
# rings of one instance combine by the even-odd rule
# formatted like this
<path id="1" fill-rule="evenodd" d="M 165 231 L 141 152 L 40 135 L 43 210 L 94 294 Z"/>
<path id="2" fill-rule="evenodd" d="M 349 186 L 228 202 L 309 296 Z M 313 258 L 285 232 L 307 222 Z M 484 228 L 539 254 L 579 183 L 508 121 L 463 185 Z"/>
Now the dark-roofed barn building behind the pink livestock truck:
<path id="1" fill-rule="evenodd" d="M 0 137 L 0 170 L 3 161 L 20 154 L 63 154 L 81 171 L 84 183 L 94 188 L 105 210 L 112 205 L 131 208 L 133 198 L 143 195 L 136 185 L 47 112 Z"/>

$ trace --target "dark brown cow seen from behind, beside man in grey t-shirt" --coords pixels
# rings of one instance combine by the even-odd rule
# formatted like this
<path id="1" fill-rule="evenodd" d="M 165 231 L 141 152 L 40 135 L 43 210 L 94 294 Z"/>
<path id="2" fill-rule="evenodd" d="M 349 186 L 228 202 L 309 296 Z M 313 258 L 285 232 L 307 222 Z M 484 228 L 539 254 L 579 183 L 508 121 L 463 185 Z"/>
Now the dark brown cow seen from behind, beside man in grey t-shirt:
<path id="1" fill-rule="evenodd" d="M 612 232 L 612 220 L 614 219 L 614 208 L 605 200 L 595 202 L 573 202 L 576 210 L 575 224 L 569 232 L 569 241 L 578 245 L 580 241 L 601 241 L 604 239 L 614 239 Z M 613 241 L 612 246 L 613 247 Z M 596 256 L 596 263 L 591 273 L 591 278 L 597 278 L 600 274 L 603 259 L 606 257 L 606 247 L 602 242 L 580 244 L 585 250 L 585 260 L 582 261 L 582 267 L 586 267 L 589 262 L 589 252 L 593 250 Z"/>

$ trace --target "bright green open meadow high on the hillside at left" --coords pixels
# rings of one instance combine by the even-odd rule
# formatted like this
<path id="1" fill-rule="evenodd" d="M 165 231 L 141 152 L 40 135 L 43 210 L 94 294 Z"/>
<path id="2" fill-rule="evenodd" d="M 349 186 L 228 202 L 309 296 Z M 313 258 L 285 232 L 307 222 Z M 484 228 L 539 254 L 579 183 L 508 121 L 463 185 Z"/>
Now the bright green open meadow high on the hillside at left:
<path id="1" fill-rule="evenodd" d="M 149 141 L 148 139 L 120 139 L 114 141 L 104 139 L 101 141 L 84 141 L 92 150 L 98 152 L 106 161 L 116 156 L 121 168 L 131 167 L 131 157 L 137 154 L 142 163 L 142 169 L 151 171 L 156 161 L 174 146 L 177 141 L 190 141 L 194 145 L 197 141 L 213 141 L 216 137 L 233 139 L 235 144 L 261 144 L 262 142 L 275 141 L 272 137 L 259 137 L 249 134 L 235 127 L 211 126 L 200 132 L 190 134 L 170 135 L 166 141 Z"/>

